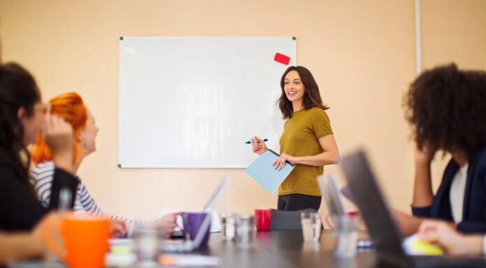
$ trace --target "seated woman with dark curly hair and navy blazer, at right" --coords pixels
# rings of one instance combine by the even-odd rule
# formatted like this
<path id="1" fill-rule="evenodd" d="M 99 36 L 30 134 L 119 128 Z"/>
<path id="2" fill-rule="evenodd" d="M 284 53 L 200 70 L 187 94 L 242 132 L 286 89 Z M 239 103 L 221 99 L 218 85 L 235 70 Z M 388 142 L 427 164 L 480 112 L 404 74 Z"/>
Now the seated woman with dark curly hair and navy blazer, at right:
<path id="1" fill-rule="evenodd" d="M 406 95 L 406 118 L 415 136 L 413 216 L 397 213 L 405 233 L 424 218 L 440 219 L 459 232 L 486 232 L 486 72 L 457 65 L 423 72 Z M 432 192 L 436 152 L 450 159 Z"/>

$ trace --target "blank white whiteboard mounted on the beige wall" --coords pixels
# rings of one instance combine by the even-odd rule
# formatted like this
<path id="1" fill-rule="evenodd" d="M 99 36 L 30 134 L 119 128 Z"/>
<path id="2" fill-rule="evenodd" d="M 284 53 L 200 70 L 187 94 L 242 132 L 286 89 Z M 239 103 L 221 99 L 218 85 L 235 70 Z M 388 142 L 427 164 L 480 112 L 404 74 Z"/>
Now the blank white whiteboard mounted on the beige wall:
<path id="1" fill-rule="evenodd" d="M 280 79 L 295 38 L 123 37 L 118 166 L 242 168 L 253 135 L 278 148 Z"/>

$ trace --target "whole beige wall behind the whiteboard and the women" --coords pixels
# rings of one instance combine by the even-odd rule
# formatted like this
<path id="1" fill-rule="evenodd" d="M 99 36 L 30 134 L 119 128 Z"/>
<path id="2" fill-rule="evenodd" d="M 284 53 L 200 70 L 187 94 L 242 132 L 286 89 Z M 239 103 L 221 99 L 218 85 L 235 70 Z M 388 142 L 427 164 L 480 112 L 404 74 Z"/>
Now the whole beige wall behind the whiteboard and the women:
<path id="1" fill-rule="evenodd" d="M 101 132 L 80 177 L 106 212 L 149 219 L 164 207 L 201 207 L 224 174 L 235 181 L 221 210 L 275 207 L 277 196 L 242 169 L 117 168 L 119 36 L 296 36 L 297 62 L 321 86 L 339 149 L 367 148 L 390 202 L 407 210 L 413 146 L 402 97 L 415 77 L 413 2 L 0 0 L 1 49 L 3 61 L 36 75 L 46 100 L 82 94 Z M 422 8 L 425 66 L 486 68 L 485 1 L 423 0 Z"/>

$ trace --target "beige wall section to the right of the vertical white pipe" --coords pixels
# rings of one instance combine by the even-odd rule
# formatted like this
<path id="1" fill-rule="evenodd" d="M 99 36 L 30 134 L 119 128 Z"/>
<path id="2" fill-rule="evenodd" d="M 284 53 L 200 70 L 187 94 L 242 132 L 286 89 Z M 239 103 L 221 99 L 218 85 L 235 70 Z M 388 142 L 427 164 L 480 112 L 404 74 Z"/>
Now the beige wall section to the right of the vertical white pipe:
<path id="1" fill-rule="evenodd" d="M 459 68 L 486 70 L 486 1 L 422 0 L 423 68 L 455 62 Z M 434 187 L 450 157 L 436 157 Z"/>

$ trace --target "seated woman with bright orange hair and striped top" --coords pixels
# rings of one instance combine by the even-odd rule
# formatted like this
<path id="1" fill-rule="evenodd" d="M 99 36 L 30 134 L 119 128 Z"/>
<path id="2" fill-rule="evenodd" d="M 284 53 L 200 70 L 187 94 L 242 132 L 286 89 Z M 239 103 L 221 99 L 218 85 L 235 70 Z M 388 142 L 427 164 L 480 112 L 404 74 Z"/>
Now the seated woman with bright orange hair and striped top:
<path id="1" fill-rule="evenodd" d="M 89 112 L 87 107 L 78 93 L 65 93 L 50 100 L 51 113 L 64 118 L 73 126 L 73 166 L 75 173 L 82 164 L 84 157 L 87 157 L 91 152 L 96 151 L 96 134 L 98 127 L 93 115 Z M 31 147 L 32 161 L 34 161 L 34 168 L 30 171 L 30 180 L 34 185 L 36 194 L 43 205 L 48 206 L 51 197 L 52 174 L 54 171 L 54 163 L 52 162 L 52 150 L 43 139 L 42 134 L 38 133 L 36 145 Z M 78 189 L 76 191 L 74 210 L 76 213 L 90 213 L 90 214 L 105 214 L 96 204 L 95 200 L 90 196 L 87 188 L 82 183 L 79 177 Z M 105 214 L 107 215 L 107 214 Z M 112 232 L 114 237 L 123 237 L 130 235 L 134 224 L 137 222 L 133 219 L 126 219 L 121 216 L 110 216 L 112 220 L 119 223 Z M 165 216 L 157 222 L 159 228 L 169 235 L 175 228 L 175 215 L 170 214 Z"/>

